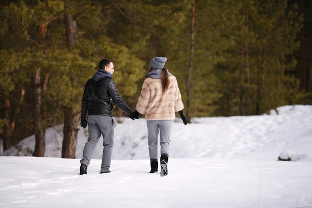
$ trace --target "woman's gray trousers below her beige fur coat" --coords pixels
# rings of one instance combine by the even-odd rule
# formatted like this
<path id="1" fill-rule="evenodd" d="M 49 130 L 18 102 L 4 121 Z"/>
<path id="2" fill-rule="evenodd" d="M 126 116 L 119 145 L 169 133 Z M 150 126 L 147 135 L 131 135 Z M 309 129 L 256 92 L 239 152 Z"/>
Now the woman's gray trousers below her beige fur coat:
<path id="1" fill-rule="evenodd" d="M 157 142 L 160 137 L 160 155 L 169 155 L 172 120 L 147 121 L 150 159 L 158 158 Z"/>

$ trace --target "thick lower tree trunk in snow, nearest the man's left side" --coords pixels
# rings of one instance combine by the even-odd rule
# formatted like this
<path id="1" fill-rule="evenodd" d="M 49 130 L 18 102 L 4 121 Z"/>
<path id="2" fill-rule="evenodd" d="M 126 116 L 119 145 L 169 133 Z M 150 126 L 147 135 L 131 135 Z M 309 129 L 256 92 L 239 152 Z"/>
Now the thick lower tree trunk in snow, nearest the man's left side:
<path id="1" fill-rule="evenodd" d="M 64 128 L 63 128 L 63 145 L 62 158 L 75 158 L 77 135 L 77 121 L 80 112 L 68 107 L 64 107 Z"/>

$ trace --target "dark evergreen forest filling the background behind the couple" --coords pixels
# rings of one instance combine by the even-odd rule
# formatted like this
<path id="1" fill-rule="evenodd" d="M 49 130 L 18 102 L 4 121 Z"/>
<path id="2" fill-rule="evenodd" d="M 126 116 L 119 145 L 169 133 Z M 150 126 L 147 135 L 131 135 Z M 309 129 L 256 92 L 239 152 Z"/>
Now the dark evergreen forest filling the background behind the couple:
<path id="1" fill-rule="evenodd" d="M 62 157 L 75 158 L 84 86 L 103 58 L 134 110 L 155 56 L 188 122 L 311 105 L 311 11 L 311 0 L 1 0 L 3 150 L 35 135 L 42 157 L 45 130 L 63 125 Z"/>

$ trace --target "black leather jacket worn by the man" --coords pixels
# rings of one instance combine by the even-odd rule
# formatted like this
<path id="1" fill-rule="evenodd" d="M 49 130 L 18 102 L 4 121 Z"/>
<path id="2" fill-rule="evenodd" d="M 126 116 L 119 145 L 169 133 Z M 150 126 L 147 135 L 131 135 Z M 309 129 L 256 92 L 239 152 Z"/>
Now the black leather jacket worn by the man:
<path id="1" fill-rule="evenodd" d="M 124 111 L 127 115 L 131 115 L 133 110 L 124 102 L 119 95 L 115 82 L 108 76 L 108 72 L 101 69 L 97 74 L 101 77 L 93 77 L 86 83 L 81 105 L 81 118 L 84 119 L 88 115 L 113 116 L 113 104 L 111 100 Z M 97 81 L 95 81 L 97 80 Z"/>

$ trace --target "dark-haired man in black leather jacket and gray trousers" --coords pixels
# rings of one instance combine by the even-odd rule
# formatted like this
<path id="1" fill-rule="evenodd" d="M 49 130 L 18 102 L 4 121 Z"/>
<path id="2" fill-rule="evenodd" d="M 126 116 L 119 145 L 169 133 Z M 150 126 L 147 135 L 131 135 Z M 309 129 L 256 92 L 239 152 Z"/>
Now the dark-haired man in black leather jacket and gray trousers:
<path id="1" fill-rule="evenodd" d="M 88 127 L 88 142 L 86 142 L 82 160 L 80 160 L 80 175 L 87 174 L 94 149 L 103 135 L 103 155 L 101 174 L 110 173 L 111 157 L 114 144 L 113 104 L 130 116 L 132 120 L 139 119 L 139 113 L 134 112 L 121 98 L 115 82 L 112 80 L 114 64 L 103 59 L 98 71 L 86 83 L 81 105 L 81 127 Z M 88 118 L 87 118 L 88 115 Z"/>

